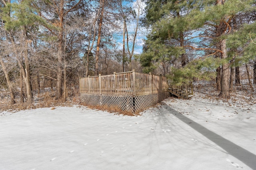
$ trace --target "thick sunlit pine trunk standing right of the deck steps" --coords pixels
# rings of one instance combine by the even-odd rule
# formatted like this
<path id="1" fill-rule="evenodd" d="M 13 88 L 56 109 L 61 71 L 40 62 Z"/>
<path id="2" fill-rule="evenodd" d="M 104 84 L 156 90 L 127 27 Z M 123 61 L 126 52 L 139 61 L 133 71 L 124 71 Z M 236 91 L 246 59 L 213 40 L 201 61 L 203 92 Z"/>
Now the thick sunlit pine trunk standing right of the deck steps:
<path id="1" fill-rule="evenodd" d="M 223 39 L 220 44 L 220 49 L 222 51 L 221 58 L 226 59 L 228 57 L 227 55 L 227 49 L 226 49 L 226 39 Z M 230 98 L 230 64 L 222 64 L 222 75 L 221 75 L 221 90 L 219 96 L 221 98 Z"/>

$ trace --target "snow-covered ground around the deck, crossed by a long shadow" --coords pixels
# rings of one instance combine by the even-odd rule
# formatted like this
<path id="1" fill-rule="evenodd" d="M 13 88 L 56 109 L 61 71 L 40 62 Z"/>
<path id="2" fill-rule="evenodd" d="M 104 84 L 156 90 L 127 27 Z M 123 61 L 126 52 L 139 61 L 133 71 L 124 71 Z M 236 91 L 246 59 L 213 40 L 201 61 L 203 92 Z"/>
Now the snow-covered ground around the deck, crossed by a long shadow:
<path id="1" fill-rule="evenodd" d="M 84 106 L 0 112 L 0 170 L 256 169 L 256 107 L 169 98 L 140 116 Z"/>

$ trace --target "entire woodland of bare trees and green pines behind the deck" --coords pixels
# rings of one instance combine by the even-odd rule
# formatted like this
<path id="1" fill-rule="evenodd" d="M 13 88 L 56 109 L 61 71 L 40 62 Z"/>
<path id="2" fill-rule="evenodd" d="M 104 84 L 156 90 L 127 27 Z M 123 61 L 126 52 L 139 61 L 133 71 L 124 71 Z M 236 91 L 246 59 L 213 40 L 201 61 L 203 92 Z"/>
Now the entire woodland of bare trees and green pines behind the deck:
<path id="1" fill-rule="evenodd" d="M 1 0 L 0 6 L 0 96 L 9 107 L 32 107 L 36 95 L 65 102 L 79 95 L 79 77 L 132 69 L 176 83 L 211 81 L 220 98 L 236 89 L 254 92 L 255 0 Z"/>

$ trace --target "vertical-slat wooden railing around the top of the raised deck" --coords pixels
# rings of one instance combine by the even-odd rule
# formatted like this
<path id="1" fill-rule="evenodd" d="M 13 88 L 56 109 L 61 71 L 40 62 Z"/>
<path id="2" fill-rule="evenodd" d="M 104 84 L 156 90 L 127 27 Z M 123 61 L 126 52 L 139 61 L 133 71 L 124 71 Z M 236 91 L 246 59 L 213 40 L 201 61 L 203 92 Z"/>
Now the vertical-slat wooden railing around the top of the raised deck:
<path id="1" fill-rule="evenodd" d="M 80 78 L 80 93 L 142 95 L 167 92 L 168 82 L 165 76 L 140 72 L 120 72 L 111 75 L 88 76 Z"/>

